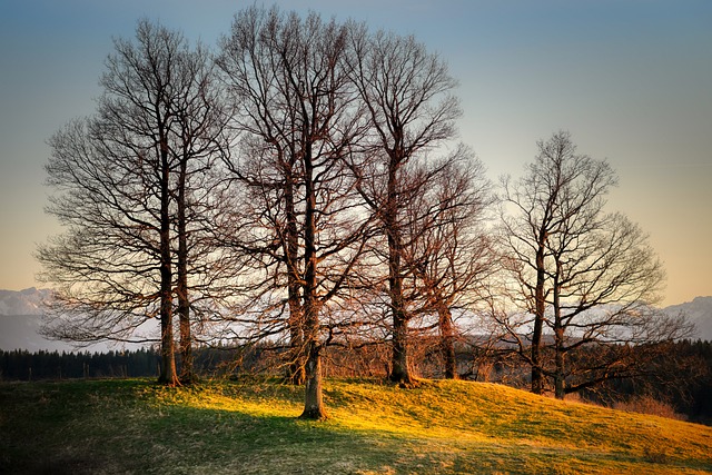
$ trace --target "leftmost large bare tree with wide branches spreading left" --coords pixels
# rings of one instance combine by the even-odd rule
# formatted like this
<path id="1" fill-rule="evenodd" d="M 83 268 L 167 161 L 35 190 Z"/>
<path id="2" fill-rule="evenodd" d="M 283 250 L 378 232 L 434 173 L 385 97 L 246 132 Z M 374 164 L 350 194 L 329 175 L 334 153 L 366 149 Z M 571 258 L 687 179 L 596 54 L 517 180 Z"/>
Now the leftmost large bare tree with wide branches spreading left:
<path id="1" fill-rule="evenodd" d="M 189 234 L 206 221 L 197 216 L 207 201 L 191 201 L 189 182 L 220 150 L 224 122 L 208 91 L 209 58 L 179 32 L 142 20 L 136 41 L 118 39 L 115 50 L 97 113 L 50 140 L 56 195 L 48 211 L 66 232 L 37 253 L 42 278 L 56 286 L 48 331 L 79 342 L 136 340 L 137 328 L 158 316 L 159 380 L 174 385 L 175 289 L 187 355 L 187 276 L 197 268 Z"/>

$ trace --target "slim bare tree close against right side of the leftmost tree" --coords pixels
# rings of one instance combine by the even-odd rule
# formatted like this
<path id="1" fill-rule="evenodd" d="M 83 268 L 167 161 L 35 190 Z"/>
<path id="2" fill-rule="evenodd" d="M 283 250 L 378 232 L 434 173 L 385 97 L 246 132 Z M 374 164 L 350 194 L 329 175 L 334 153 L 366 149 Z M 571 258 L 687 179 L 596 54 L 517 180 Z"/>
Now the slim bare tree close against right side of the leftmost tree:
<path id="1" fill-rule="evenodd" d="M 216 169 L 229 156 L 231 140 L 227 130 L 228 109 L 218 88 L 215 69 L 210 52 L 197 44 L 191 50 L 180 51 L 171 78 L 176 93 L 170 107 L 175 115 L 175 133 L 179 138 L 170 142 L 170 152 L 177 161 L 172 196 L 178 240 L 175 248 L 175 291 L 182 383 L 195 377 L 191 310 L 199 310 L 199 299 L 208 299 L 209 305 L 215 306 L 215 300 L 219 300 L 224 293 L 215 285 L 220 280 L 219 275 L 226 270 L 228 277 L 234 274 L 217 265 L 221 259 L 211 240 L 216 214 L 221 212 L 215 196 L 219 196 L 227 186 Z"/>

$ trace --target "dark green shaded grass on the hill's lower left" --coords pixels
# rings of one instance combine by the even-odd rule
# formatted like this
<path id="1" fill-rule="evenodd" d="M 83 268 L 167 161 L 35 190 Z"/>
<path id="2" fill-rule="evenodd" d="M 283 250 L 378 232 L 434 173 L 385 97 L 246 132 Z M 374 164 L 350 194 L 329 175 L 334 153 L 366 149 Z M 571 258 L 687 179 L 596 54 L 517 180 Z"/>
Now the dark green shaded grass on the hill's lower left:
<path id="1" fill-rule="evenodd" d="M 150 383 L 1 385 L 0 473 L 387 473 L 392 448 L 291 416 L 159 404 Z"/>

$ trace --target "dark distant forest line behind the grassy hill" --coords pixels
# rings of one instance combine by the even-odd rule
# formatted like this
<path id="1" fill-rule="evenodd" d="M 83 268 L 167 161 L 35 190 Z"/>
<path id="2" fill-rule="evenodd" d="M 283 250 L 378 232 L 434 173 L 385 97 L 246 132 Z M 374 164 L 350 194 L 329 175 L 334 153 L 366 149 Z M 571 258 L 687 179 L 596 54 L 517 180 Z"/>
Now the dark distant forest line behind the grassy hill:
<path id="1" fill-rule="evenodd" d="M 691 422 L 712 423 L 712 342 L 681 340 L 665 344 L 660 356 L 634 377 L 610 379 L 581 393 L 583 400 L 616 408 L 674 415 Z M 411 370 L 429 378 L 444 377 L 443 355 L 433 350 L 428 338 L 413 342 Z M 623 347 L 622 347 L 623 348 Z M 660 349 L 660 348 L 657 348 Z M 642 348 L 634 350 L 642 352 Z M 587 355 L 584 355 L 589 353 Z M 594 352 L 583 350 L 580 357 Z M 333 347 L 325 355 L 324 373 L 332 377 L 376 377 L 388 374 L 389 352 L 386 344 L 362 347 Z M 160 353 L 156 349 L 112 350 L 107 353 L 59 353 L 0 350 L 1 380 L 71 379 L 102 377 L 157 377 Z M 280 357 L 268 346 L 249 349 L 236 347 L 196 348 L 194 365 L 200 377 L 239 377 L 245 375 L 281 376 L 274 362 Z M 459 377 L 475 382 L 502 383 L 526 388 L 531 373 L 520 359 L 502 350 L 484 350 L 476 343 L 456 345 Z M 180 370 L 181 362 L 177 358 Z M 641 402 L 647 402 L 644 407 Z M 661 413 L 655 407 L 670 412 Z"/>

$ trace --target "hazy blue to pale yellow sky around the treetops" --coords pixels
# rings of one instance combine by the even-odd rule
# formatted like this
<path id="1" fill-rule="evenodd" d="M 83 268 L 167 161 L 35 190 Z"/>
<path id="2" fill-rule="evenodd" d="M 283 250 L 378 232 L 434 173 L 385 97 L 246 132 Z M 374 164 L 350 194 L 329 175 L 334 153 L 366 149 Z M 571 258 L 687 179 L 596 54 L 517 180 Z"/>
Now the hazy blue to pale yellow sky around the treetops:
<path id="1" fill-rule="evenodd" d="M 712 295 L 712 1 L 295 0 L 283 9 L 413 33 L 459 80 L 461 138 L 490 177 L 571 131 L 620 177 L 610 209 L 651 236 L 663 304 Z M 0 289 L 34 286 L 47 139 L 92 113 L 112 37 L 158 20 L 208 44 L 251 1 L 0 1 Z M 258 2 L 259 4 L 259 2 Z M 271 4 L 265 2 L 266 6 Z"/>

